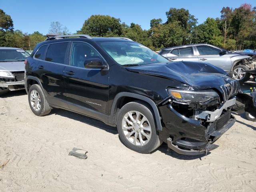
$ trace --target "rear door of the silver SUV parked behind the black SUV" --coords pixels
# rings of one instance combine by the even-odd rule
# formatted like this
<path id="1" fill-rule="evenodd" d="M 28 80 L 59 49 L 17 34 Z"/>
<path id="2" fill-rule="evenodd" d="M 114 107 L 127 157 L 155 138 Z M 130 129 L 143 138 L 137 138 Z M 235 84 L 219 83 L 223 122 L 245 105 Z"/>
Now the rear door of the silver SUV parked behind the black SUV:
<path id="1" fill-rule="evenodd" d="M 195 54 L 193 46 L 185 46 L 181 48 L 174 48 L 167 54 L 169 60 L 172 61 L 197 61 L 198 57 Z"/>

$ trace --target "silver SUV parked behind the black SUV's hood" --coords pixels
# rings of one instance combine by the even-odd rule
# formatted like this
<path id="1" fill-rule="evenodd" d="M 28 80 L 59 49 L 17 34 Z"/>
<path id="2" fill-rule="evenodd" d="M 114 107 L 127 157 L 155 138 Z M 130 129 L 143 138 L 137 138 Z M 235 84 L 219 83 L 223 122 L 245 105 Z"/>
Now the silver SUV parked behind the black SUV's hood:
<path id="1" fill-rule="evenodd" d="M 162 49 L 159 54 L 171 61 L 207 62 L 226 71 L 232 78 L 245 82 L 250 74 L 250 56 L 231 53 L 210 44 L 190 44 Z"/>

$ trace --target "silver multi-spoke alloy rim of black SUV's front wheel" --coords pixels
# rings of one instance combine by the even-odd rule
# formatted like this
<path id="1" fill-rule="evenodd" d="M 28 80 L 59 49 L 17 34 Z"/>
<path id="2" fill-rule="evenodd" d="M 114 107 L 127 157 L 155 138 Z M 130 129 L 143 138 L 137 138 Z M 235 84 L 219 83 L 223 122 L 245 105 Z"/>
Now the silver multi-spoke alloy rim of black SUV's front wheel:
<path id="1" fill-rule="evenodd" d="M 142 113 L 127 112 L 122 120 L 122 130 L 126 139 L 136 146 L 146 145 L 151 138 L 151 126 Z"/>

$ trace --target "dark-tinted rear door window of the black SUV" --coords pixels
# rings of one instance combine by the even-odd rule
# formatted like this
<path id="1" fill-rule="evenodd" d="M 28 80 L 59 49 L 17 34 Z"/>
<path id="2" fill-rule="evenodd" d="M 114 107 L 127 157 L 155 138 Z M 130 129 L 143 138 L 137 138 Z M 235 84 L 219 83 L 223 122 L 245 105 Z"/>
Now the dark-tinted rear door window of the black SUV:
<path id="1" fill-rule="evenodd" d="M 64 64 L 67 47 L 68 42 L 50 44 L 45 60 Z"/>

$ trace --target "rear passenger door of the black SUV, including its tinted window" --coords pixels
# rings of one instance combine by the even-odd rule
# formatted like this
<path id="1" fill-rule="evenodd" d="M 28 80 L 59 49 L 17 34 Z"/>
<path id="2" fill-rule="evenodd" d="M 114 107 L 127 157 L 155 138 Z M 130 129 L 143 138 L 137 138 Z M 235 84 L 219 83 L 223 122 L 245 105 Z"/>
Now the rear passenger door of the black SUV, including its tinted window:
<path id="1" fill-rule="evenodd" d="M 64 108 L 68 108 L 63 78 L 64 68 L 68 62 L 68 46 L 69 42 L 48 44 L 45 56 L 38 60 L 36 73 L 40 78 L 48 102 Z M 34 58 L 38 59 L 36 57 L 39 54 L 36 52 Z"/>

